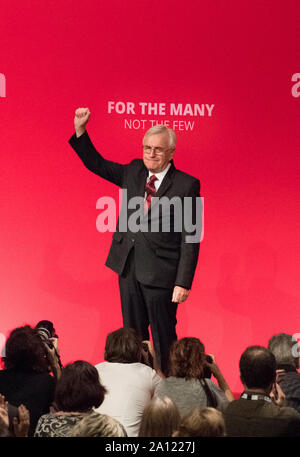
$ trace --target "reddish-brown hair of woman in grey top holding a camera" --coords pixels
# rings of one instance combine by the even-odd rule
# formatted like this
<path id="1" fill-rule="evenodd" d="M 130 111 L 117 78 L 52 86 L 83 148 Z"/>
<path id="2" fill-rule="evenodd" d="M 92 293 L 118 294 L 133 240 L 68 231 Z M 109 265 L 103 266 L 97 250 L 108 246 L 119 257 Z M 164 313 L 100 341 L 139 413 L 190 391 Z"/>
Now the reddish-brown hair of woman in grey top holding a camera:
<path id="1" fill-rule="evenodd" d="M 185 379 L 203 377 L 205 349 L 198 338 L 174 341 L 169 359 L 169 376 Z"/>

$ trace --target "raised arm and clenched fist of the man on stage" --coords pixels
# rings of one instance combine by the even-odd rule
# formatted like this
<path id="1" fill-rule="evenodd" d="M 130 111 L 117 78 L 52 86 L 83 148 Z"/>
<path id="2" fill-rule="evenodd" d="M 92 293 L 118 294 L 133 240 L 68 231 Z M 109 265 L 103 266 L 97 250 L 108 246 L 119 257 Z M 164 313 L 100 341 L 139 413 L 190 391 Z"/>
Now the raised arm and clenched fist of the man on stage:
<path id="1" fill-rule="evenodd" d="M 88 108 L 78 108 L 75 111 L 75 133 L 70 138 L 69 143 L 88 170 L 119 187 L 123 187 L 126 165 L 106 160 L 96 150 L 86 131 L 90 114 Z"/>

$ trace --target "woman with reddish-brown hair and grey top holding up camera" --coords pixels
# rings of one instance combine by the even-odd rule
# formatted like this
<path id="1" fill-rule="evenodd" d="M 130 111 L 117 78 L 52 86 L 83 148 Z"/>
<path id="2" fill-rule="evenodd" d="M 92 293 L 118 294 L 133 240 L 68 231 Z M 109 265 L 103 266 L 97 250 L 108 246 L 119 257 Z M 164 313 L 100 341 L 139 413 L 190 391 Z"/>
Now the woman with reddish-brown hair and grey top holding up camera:
<path id="1" fill-rule="evenodd" d="M 168 396 L 181 415 L 195 407 L 219 407 L 234 399 L 213 356 L 206 360 L 204 345 L 197 338 L 182 338 L 171 347 L 169 377 L 160 383 L 156 395 Z M 219 386 L 205 378 L 209 367 Z"/>

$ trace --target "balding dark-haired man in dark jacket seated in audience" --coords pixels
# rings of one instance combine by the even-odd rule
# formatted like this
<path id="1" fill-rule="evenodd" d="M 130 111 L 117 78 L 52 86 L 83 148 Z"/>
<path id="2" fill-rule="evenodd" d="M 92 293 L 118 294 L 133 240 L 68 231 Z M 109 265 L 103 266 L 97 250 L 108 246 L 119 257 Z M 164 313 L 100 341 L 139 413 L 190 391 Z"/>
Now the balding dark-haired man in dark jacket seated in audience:
<path id="1" fill-rule="evenodd" d="M 247 348 L 240 359 L 240 376 L 245 390 L 224 410 L 226 435 L 300 436 L 300 414 L 279 406 L 274 355 L 261 346 Z"/>

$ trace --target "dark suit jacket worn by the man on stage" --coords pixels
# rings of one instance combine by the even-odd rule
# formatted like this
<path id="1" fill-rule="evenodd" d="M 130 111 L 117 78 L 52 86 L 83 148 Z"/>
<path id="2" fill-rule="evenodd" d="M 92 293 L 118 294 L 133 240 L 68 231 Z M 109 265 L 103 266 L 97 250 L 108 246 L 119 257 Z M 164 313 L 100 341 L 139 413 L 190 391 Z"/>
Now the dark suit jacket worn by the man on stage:
<path id="1" fill-rule="evenodd" d="M 117 229 L 113 234 L 111 248 L 106 265 L 113 271 L 122 274 L 129 252 L 134 246 L 136 277 L 139 282 L 149 286 L 173 288 L 175 285 L 190 289 L 197 265 L 200 236 L 197 242 L 187 242 L 186 236 L 192 235 L 182 216 L 182 230 L 178 231 L 175 223 L 178 221 L 178 212 L 171 206 L 170 216 L 157 201 L 151 205 L 151 211 L 147 217 L 139 220 L 140 227 L 144 229 L 135 232 L 122 225 L 130 217 L 135 217 L 137 208 L 128 208 L 127 203 L 133 197 L 144 198 L 145 184 L 148 170 L 143 160 L 135 159 L 127 165 L 111 162 L 104 159 L 93 146 L 87 132 L 79 138 L 74 134 L 69 140 L 70 145 L 78 154 L 84 165 L 93 173 L 125 189 L 127 199 L 123 198 Z M 196 207 L 200 208 L 200 182 L 198 179 L 183 173 L 175 168 L 173 162 L 164 177 L 156 197 L 178 197 L 184 209 L 184 197 L 190 197 L 192 202 L 192 214 L 187 214 L 190 221 L 196 223 Z M 154 202 L 154 201 L 152 201 Z M 155 204 L 157 212 L 155 213 Z M 150 231 L 151 214 L 156 214 L 158 231 Z M 184 211 L 183 211 L 184 213 Z M 199 214 L 198 214 L 199 216 Z M 177 217 L 177 219 L 176 219 Z M 163 231 L 163 222 L 168 219 L 170 230 Z M 122 221 L 122 223 L 121 223 Z M 148 221 L 148 222 L 147 222 Z M 199 222 L 199 217 L 198 217 Z M 127 225 L 127 224 L 126 224 Z M 147 230 L 148 227 L 148 231 Z M 175 231 L 177 230 L 177 231 Z"/>

